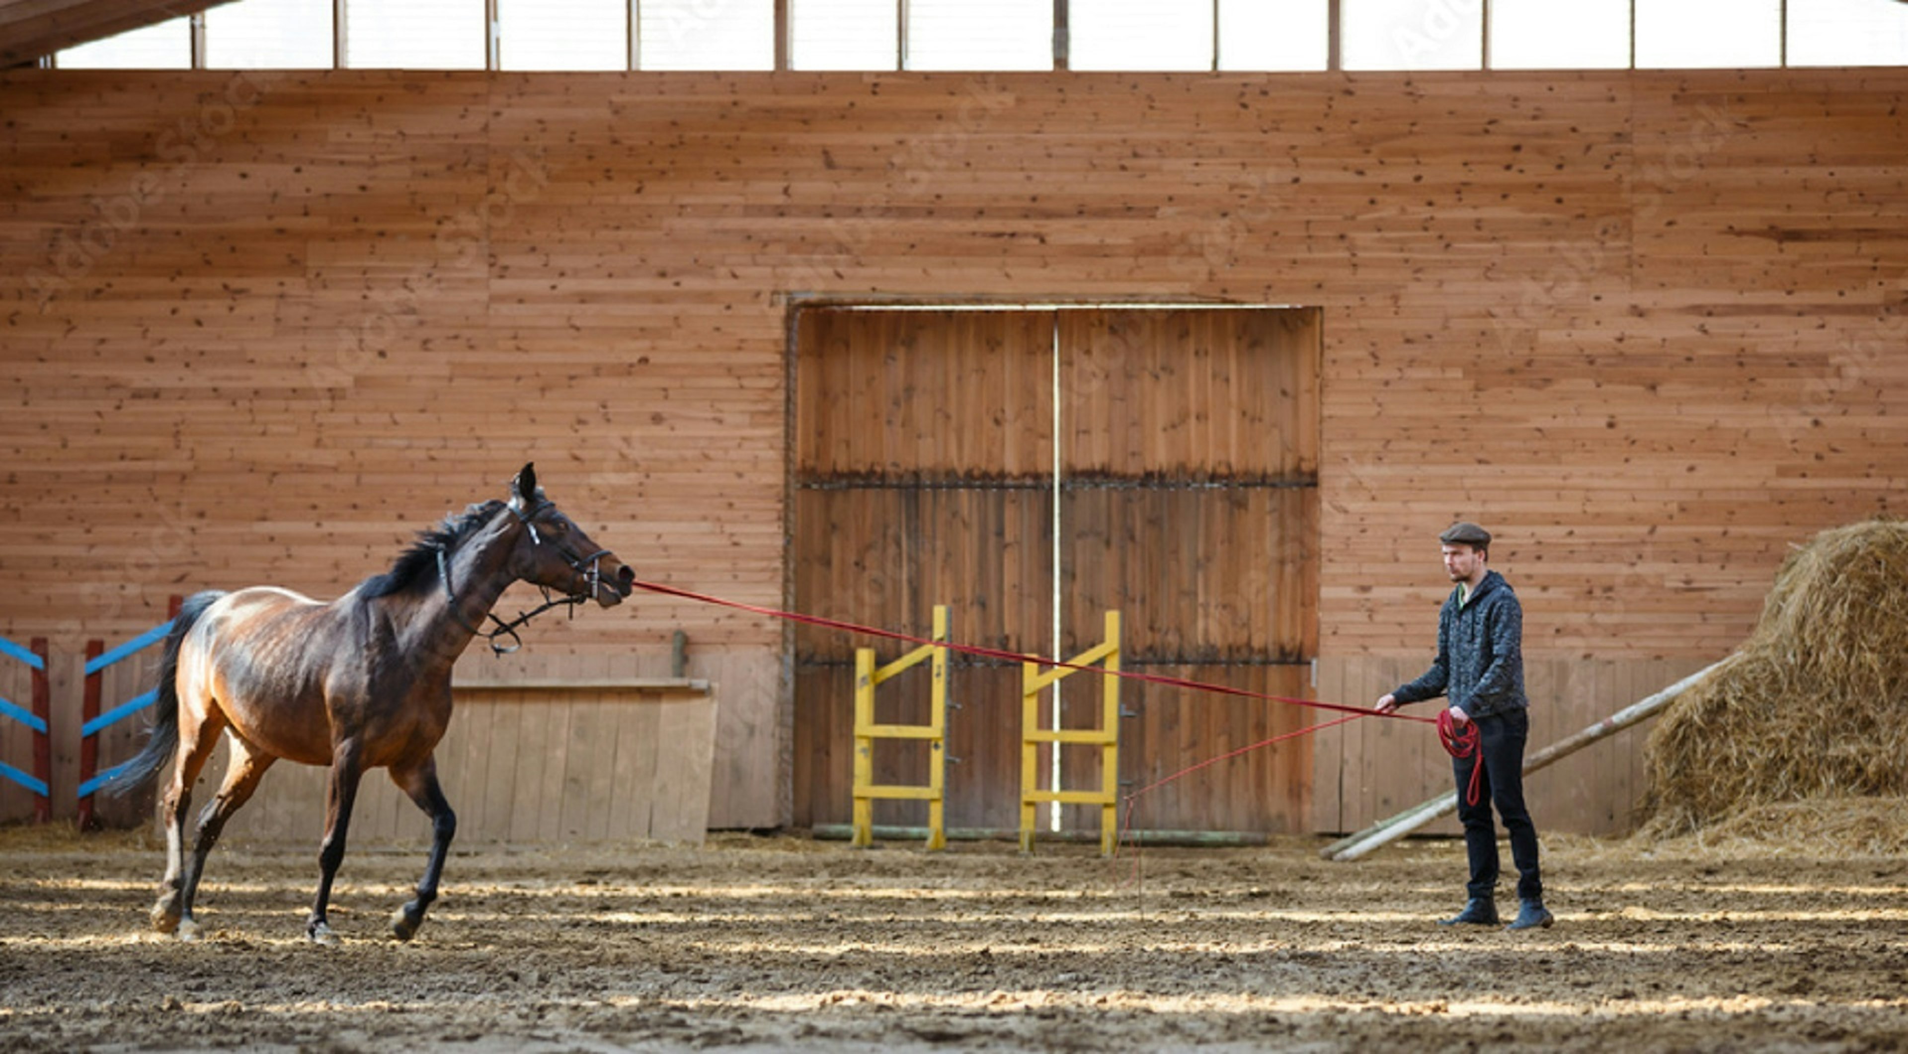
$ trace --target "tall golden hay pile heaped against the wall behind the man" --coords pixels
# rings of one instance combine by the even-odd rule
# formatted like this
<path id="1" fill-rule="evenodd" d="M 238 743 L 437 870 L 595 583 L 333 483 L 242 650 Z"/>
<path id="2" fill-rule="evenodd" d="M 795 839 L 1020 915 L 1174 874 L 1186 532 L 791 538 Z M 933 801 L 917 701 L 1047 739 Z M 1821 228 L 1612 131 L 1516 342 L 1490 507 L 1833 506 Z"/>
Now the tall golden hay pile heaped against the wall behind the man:
<path id="1" fill-rule="evenodd" d="M 1790 555 L 1755 633 L 1670 705 L 1645 764 L 1649 839 L 1750 814 L 1818 827 L 1763 806 L 1908 795 L 1908 522 L 1826 530 Z M 1902 844 L 1908 816 L 1893 816 L 1902 831 L 1868 841 Z"/>

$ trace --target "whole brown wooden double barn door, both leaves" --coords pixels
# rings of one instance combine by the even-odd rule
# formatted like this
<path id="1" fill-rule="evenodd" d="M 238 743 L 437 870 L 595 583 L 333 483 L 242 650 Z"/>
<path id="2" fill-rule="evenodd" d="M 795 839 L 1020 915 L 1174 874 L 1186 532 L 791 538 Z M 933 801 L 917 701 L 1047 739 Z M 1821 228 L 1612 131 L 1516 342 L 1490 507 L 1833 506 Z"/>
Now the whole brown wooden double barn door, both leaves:
<path id="1" fill-rule="evenodd" d="M 925 635 L 933 604 L 948 604 L 956 640 L 1053 654 L 1059 602 L 1059 644 L 1078 654 L 1097 642 L 1101 612 L 1120 608 L 1128 669 L 1305 696 L 1317 370 L 1315 311 L 805 309 L 796 610 Z M 881 661 L 902 650 L 794 631 L 798 823 L 849 818 L 853 650 L 868 644 Z M 1011 829 L 1019 669 L 965 656 L 952 665 L 948 753 L 960 760 L 946 821 Z M 1074 680 L 1063 682 L 1065 720 L 1091 724 L 1097 682 Z M 891 682 L 883 720 L 925 720 L 925 684 Z M 1137 682 L 1122 699 L 1135 715 L 1122 726 L 1130 785 L 1305 720 L 1294 707 Z M 923 783 L 923 766 L 912 743 L 876 753 L 883 783 Z M 1068 749 L 1061 770 L 1065 785 L 1091 785 L 1097 755 Z M 1147 795 L 1141 821 L 1301 829 L 1309 783 L 1309 745 L 1259 751 Z M 922 808 L 878 802 L 876 823 L 918 825 Z M 1097 814 L 1067 808 L 1063 825 L 1095 829 Z"/>

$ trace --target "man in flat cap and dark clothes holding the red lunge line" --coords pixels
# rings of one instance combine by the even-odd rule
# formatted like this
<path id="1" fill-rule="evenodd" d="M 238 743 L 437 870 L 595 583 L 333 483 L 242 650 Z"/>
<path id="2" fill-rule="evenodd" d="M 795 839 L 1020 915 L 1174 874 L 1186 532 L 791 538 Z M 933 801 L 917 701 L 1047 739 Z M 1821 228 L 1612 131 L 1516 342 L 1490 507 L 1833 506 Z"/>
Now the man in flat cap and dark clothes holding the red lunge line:
<path id="1" fill-rule="evenodd" d="M 1507 930 L 1549 926 L 1544 907 L 1544 877 L 1538 871 L 1538 829 L 1524 808 L 1524 740 L 1530 736 L 1530 699 L 1524 698 L 1524 612 L 1504 576 L 1490 570 L 1490 532 L 1471 522 L 1452 524 L 1439 536 L 1444 545 L 1444 572 L 1458 583 L 1437 619 L 1437 661 L 1423 677 L 1378 699 L 1378 713 L 1402 703 L 1450 698 L 1450 720 L 1462 732 L 1475 724 L 1475 757 L 1452 760 L 1458 778 L 1458 820 L 1463 821 L 1463 848 L 1471 858 L 1469 900 L 1463 911 L 1441 919 L 1441 926 L 1498 924 L 1498 831 L 1490 806 L 1511 835 L 1517 863 L 1517 919 Z M 1477 804 L 1469 804 L 1471 766 L 1477 774 Z"/>

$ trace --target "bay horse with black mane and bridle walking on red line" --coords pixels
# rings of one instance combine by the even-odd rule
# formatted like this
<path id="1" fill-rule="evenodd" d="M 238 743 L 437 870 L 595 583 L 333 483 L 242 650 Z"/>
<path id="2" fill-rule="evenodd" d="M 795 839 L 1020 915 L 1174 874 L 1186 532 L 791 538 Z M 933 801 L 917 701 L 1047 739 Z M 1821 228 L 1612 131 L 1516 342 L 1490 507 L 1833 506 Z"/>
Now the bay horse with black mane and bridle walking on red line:
<path id="1" fill-rule="evenodd" d="M 485 633 L 477 625 L 504 589 L 519 579 L 561 591 L 567 602 L 595 600 L 605 608 L 620 604 L 635 581 L 633 570 L 544 497 L 534 463 L 511 480 L 508 501 L 471 505 L 437 530 L 420 532 L 389 572 L 328 604 L 269 585 L 187 598 L 166 635 L 149 740 L 107 781 L 109 791 L 126 793 L 172 760 L 160 806 L 166 877 L 153 926 L 179 940 L 198 936 L 193 898 L 206 854 L 265 770 L 290 759 L 330 766 L 319 896 L 305 936 L 338 943 L 326 905 L 345 854 L 351 802 L 364 770 L 387 768 L 431 818 L 431 856 L 418 896 L 391 917 L 397 940 L 410 940 L 437 900 L 458 827 L 433 759 L 450 724 L 450 667 Z M 498 633 L 508 627 L 487 637 Z M 193 781 L 221 732 L 231 738 L 231 764 L 185 858 Z"/>

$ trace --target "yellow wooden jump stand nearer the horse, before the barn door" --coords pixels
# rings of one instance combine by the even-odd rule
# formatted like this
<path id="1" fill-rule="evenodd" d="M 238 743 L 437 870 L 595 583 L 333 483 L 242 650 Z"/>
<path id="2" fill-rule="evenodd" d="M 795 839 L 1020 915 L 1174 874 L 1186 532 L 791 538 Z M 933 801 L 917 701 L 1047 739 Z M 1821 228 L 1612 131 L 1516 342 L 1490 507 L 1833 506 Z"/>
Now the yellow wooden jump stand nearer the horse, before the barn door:
<path id="1" fill-rule="evenodd" d="M 929 640 L 946 642 L 948 610 L 935 604 L 935 623 Z M 874 690 L 883 680 L 914 667 L 922 659 L 929 661 L 931 694 L 927 724 L 876 724 Z M 876 669 L 874 648 L 855 650 L 855 837 L 853 844 L 874 844 L 874 802 L 876 799 L 902 799 L 927 802 L 927 848 L 946 848 L 946 726 L 948 726 L 948 650 L 937 644 L 901 656 Z M 876 740 L 925 740 L 927 741 L 927 785 L 881 785 L 874 781 L 874 741 Z"/>

